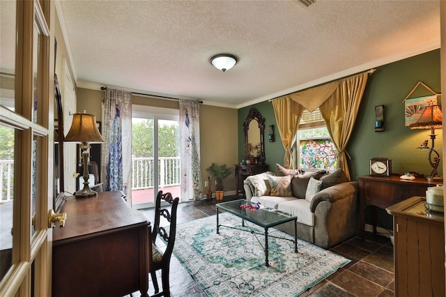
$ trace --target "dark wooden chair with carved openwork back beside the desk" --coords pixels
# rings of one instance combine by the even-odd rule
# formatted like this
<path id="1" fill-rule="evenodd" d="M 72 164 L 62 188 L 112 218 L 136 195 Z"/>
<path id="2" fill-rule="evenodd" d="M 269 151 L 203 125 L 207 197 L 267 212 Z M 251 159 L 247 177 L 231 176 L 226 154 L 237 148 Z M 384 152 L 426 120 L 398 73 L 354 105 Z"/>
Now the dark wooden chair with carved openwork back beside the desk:
<path id="1" fill-rule="evenodd" d="M 174 250 L 175 234 L 176 234 L 176 210 L 178 208 L 178 201 L 180 199 L 172 197 L 171 193 L 165 194 L 162 191 L 158 192 L 155 202 L 155 222 L 152 230 L 152 262 L 151 262 L 151 277 L 153 287 L 155 288 L 155 295 L 153 296 L 170 296 L 169 289 L 169 268 L 172 250 Z M 165 206 L 161 206 L 161 202 L 166 201 L 171 205 L 171 210 Z M 167 206 L 167 205 L 166 205 Z M 163 208 L 162 208 L 163 207 Z M 160 226 L 160 217 L 163 217 L 169 222 L 169 232 Z M 160 236 L 166 243 L 165 250 L 156 245 L 156 239 Z M 164 250 L 164 252 L 163 252 Z M 156 280 L 156 271 L 161 270 L 162 291 L 158 287 Z"/>

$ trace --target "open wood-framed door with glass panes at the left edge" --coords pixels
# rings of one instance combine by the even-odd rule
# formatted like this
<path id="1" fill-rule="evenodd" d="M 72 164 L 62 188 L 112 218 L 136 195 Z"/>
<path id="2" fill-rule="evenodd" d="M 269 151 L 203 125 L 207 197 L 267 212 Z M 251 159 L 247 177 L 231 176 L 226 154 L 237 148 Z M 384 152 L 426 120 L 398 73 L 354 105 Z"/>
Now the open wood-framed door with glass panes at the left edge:
<path id="1" fill-rule="evenodd" d="M 0 6 L 0 296 L 50 296 L 54 3 Z"/>

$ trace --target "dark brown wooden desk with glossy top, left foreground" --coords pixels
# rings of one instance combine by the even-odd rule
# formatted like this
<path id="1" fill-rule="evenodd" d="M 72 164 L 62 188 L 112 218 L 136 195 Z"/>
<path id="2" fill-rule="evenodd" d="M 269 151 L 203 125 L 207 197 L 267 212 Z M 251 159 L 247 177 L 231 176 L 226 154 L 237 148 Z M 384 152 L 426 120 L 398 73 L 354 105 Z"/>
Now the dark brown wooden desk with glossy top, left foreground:
<path id="1" fill-rule="evenodd" d="M 68 197 L 53 230 L 52 296 L 148 296 L 150 222 L 121 192 Z"/>

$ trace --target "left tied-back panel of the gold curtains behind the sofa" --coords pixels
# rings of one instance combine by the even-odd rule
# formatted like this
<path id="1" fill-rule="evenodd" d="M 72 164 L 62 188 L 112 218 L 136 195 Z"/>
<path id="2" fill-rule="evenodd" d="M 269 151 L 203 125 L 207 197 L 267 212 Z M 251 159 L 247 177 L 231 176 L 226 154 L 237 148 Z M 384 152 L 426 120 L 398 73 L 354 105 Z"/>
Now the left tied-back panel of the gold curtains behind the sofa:
<path id="1" fill-rule="evenodd" d="M 282 96 L 272 100 L 272 107 L 277 122 L 277 130 L 279 130 L 282 145 L 285 148 L 284 167 L 293 167 L 293 154 L 291 152 L 291 145 L 293 138 L 298 132 L 300 117 L 304 108 L 289 96 Z"/>

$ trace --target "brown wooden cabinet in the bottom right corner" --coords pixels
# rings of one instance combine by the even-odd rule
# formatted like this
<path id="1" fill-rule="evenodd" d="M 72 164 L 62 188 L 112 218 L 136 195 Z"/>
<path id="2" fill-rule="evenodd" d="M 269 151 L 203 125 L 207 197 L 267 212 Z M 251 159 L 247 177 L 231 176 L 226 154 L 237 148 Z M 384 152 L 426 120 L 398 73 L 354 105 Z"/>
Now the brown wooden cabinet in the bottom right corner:
<path id="1" fill-rule="evenodd" d="M 443 213 L 427 214 L 424 197 L 387 208 L 394 216 L 395 296 L 445 296 Z"/>

